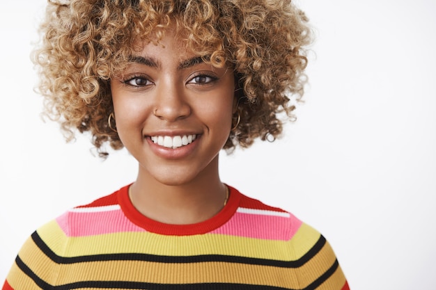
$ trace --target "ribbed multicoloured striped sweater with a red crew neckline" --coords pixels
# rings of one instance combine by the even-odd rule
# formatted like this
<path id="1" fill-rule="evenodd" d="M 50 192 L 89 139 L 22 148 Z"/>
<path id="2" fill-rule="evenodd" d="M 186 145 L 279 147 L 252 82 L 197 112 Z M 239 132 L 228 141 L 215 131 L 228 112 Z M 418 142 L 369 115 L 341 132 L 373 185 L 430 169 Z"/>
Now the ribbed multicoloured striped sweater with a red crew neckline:
<path id="1" fill-rule="evenodd" d="M 166 225 L 127 188 L 40 227 L 3 290 L 349 289 L 325 238 L 286 211 L 231 188 L 209 220 Z"/>

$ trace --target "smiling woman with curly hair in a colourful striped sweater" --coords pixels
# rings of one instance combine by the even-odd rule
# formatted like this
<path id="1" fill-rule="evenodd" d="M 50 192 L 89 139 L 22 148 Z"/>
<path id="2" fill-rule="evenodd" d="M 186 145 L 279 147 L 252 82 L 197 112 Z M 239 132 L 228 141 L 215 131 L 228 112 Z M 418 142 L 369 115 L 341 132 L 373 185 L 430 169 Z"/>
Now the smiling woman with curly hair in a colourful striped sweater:
<path id="1" fill-rule="evenodd" d="M 49 1 L 46 113 L 139 170 L 34 232 L 3 290 L 349 289 L 320 233 L 219 178 L 221 149 L 293 117 L 306 22 L 290 1 Z"/>

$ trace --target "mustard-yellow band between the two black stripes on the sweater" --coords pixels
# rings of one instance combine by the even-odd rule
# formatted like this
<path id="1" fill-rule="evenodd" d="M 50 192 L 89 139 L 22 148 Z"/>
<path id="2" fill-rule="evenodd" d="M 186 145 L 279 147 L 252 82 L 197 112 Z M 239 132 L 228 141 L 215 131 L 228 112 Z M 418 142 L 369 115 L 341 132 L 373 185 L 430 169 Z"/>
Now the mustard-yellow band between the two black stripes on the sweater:
<path id="1" fill-rule="evenodd" d="M 23 261 L 42 280 L 54 281 L 53 271 L 51 271 L 56 266 L 54 262 L 49 261 L 39 250 L 35 250 L 36 245 L 27 247 L 22 254 L 28 254 L 27 250 L 32 250 L 31 248 L 33 248 L 32 257 L 28 257 Z M 279 268 L 226 262 L 164 264 L 148 261 L 97 261 L 63 264 L 58 265 L 56 268 L 59 275 L 56 275 L 56 284 L 54 286 L 93 280 L 158 284 L 223 282 L 266 284 L 274 287 L 303 289 L 322 273 L 325 273 L 334 264 L 335 259 L 331 248 L 326 244 L 316 257 L 300 268 Z M 335 275 L 340 276 L 340 279 L 336 276 L 332 277 L 330 282 L 322 285 L 323 289 L 339 289 L 331 286 L 345 282 L 345 277 L 343 277 L 340 270 L 336 271 Z"/>

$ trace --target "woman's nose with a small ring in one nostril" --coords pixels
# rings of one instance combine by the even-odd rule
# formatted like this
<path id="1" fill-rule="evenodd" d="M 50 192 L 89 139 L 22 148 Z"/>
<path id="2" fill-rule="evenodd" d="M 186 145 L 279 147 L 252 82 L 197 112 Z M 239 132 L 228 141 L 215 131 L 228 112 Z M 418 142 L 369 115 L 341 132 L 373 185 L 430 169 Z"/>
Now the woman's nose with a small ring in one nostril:
<path id="1" fill-rule="evenodd" d="M 183 88 L 171 83 L 161 83 L 157 87 L 153 114 L 168 122 L 187 118 L 191 114 L 191 107 L 187 103 Z"/>

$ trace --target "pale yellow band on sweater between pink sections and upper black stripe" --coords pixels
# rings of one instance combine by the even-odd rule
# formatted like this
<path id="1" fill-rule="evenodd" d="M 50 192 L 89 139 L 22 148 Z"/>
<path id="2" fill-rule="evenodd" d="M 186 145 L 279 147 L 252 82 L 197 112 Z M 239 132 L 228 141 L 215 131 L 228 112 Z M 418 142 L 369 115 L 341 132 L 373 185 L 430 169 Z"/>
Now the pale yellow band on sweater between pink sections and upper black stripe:
<path id="1" fill-rule="evenodd" d="M 306 224 L 299 228 L 291 241 L 253 239 L 225 234 L 164 236 L 149 232 L 120 232 L 68 238 L 56 222 L 38 229 L 38 234 L 49 248 L 61 257 L 137 252 L 169 256 L 230 255 L 282 261 L 299 259 L 320 238 L 320 234 Z M 65 250 L 67 244 L 68 248 Z"/>

